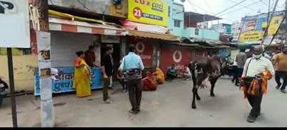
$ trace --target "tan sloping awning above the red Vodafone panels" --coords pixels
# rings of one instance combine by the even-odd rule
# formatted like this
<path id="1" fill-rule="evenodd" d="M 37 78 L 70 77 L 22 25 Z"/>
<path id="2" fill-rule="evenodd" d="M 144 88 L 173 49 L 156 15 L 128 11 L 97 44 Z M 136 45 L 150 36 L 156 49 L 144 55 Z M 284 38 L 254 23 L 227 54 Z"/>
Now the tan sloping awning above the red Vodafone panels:
<path id="1" fill-rule="evenodd" d="M 137 31 L 137 30 L 129 30 L 129 36 L 139 36 L 144 38 L 151 38 L 151 39 L 162 39 L 166 41 L 179 41 L 179 37 L 172 35 L 172 34 L 156 34 L 146 31 Z"/>

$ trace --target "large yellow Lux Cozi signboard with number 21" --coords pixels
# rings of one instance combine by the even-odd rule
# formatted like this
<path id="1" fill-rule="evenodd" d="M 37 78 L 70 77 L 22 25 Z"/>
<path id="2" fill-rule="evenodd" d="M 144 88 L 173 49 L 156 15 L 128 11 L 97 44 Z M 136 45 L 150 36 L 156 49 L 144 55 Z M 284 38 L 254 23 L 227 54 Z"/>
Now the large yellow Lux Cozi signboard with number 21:
<path id="1" fill-rule="evenodd" d="M 163 0 L 129 0 L 128 20 L 168 26 L 168 3 Z"/>

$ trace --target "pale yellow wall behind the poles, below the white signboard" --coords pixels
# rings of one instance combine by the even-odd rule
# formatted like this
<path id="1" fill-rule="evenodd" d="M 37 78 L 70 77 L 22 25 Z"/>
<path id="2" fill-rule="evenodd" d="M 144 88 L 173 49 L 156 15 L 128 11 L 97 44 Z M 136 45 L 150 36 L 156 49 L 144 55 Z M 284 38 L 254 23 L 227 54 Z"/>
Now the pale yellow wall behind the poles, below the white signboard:
<path id="1" fill-rule="evenodd" d="M 34 91 L 34 69 L 38 57 L 34 55 L 13 56 L 15 90 Z M 0 76 L 9 84 L 7 56 L 0 56 Z"/>

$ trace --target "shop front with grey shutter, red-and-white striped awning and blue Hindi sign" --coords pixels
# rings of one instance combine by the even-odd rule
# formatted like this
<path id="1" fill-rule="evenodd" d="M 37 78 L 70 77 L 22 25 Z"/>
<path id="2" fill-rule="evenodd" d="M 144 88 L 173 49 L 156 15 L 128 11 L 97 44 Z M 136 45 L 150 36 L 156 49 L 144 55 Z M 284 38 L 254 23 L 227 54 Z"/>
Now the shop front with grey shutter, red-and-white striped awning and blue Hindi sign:
<path id="1" fill-rule="evenodd" d="M 125 30 L 114 26 L 89 24 L 81 21 L 64 19 L 49 19 L 51 33 L 51 68 L 52 93 L 75 91 L 72 89 L 74 82 L 74 60 L 77 51 L 87 51 L 89 46 L 95 46 L 96 66 L 91 69 L 91 89 L 103 87 L 101 65 L 101 36 L 124 36 Z M 112 41 L 110 41 L 112 42 Z M 106 44 L 106 43 L 105 43 Z M 56 74 L 55 74 L 56 73 Z M 36 96 L 40 95 L 39 72 L 35 72 Z"/>

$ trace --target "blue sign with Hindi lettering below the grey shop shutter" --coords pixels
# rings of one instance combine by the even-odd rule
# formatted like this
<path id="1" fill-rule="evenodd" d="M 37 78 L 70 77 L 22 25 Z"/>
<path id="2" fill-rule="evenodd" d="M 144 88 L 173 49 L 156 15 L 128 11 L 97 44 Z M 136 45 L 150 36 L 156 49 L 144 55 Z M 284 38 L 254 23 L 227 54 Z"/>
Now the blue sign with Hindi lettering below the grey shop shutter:
<path id="1" fill-rule="evenodd" d="M 58 74 L 54 76 L 55 79 L 52 79 L 51 83 L 52 94 L 76 91 L 76 89 L 73 89 L 74 73 L 75 73 L 74 69 L 59 69 Z M 91 82 L 92 82 L 91 89 L 103 88 L 104 83 L 101 78 L 102 77 L 101 73 L 102 73 L 101 69 L 91 69 Z M 34 77 L 35 96 L 39 96 L 41 94 L 39 81 L 40 81 L 39 71 L 36 71 Z"/>

